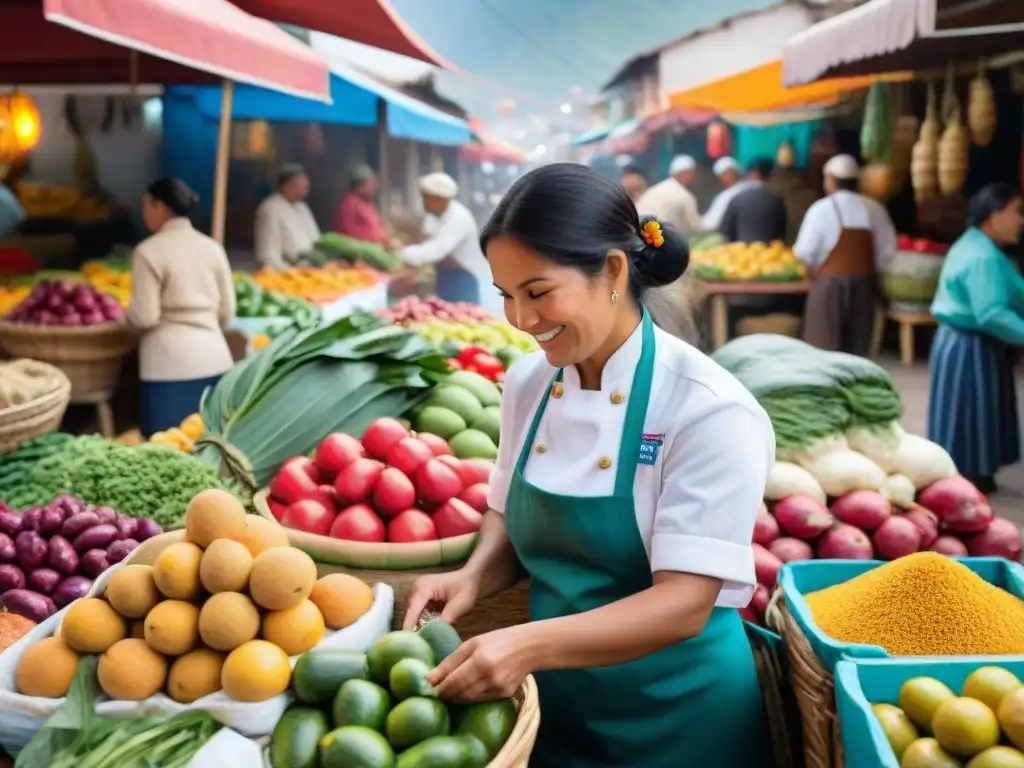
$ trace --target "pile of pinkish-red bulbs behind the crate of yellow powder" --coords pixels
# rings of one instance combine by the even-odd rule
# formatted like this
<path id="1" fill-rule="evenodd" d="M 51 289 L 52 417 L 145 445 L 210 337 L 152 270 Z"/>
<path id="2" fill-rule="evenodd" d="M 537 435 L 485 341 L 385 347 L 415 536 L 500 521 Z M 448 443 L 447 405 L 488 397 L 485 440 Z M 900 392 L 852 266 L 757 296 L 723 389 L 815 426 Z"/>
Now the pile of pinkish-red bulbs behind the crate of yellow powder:
<path id="1" fill-rule="evenodd" d="M 754 523 L 758 586 L 743 617 L 764 623 L 783 563 L 794 560 L 895 560 L 914 552 L 1019 561 L 1021 531 L 995 517 L 988 500 L 964 477 L 937 480 L 916 504 L 893 505 L 874 490 L 853 490 L 828 508 L 807 496 L 762 505 Z"/>

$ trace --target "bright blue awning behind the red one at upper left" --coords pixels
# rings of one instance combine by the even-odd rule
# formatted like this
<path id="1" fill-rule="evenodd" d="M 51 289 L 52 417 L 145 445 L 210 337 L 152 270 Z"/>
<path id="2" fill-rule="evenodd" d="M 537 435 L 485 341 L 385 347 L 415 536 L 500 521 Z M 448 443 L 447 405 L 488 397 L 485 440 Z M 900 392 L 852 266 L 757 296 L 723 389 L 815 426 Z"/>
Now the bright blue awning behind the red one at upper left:
<path id="1" fill-rule="evenodd" d="M 332 63 L 331 100 L 325 104 L 250 85 L 234 87 L 231 118 L 268 122 L 338 123 L 373 126 L 377 104 L 386 106 L 388 135 L 428 144 L 459 145 L 472 134 L 464 120 L 447 115 L 350 68 Z M 176 86 L 170 99 L 188 98 L 200 113 L 220 119 L 219 86 Z"/>

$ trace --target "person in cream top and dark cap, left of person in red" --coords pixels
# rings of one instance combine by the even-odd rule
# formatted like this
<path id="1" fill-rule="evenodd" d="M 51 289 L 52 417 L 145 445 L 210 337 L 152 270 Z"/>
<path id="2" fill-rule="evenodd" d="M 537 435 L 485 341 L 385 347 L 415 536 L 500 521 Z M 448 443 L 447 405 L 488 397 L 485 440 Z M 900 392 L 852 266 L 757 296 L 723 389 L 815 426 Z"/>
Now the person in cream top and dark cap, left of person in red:
<path id="1" fill-rule="evenodd" d="M 309 176 L 295 163 L 282 166 L 278 190 L 256 209 L 256 261 L 271 269 L 286 269 L 311 250 L 321 230 L 306 205 Z"/>

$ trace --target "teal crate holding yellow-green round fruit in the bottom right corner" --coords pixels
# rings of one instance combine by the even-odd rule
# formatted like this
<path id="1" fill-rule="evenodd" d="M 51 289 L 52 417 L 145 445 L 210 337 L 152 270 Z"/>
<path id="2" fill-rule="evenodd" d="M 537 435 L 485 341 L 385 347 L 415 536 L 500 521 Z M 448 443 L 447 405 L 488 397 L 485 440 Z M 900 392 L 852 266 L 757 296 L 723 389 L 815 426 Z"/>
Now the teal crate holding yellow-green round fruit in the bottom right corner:
<path id="1" fill-rule="evenodd" d="M 1024 680 L 1021 656 L 867 658 L 836 665 L 836 709 L 846 768 L 899 768 L 871 705 L 898 703 L 900 686 L 914 677 L 933 677 L 959 693 L 967 676 L 979 667 L 1004 667 Z"/>

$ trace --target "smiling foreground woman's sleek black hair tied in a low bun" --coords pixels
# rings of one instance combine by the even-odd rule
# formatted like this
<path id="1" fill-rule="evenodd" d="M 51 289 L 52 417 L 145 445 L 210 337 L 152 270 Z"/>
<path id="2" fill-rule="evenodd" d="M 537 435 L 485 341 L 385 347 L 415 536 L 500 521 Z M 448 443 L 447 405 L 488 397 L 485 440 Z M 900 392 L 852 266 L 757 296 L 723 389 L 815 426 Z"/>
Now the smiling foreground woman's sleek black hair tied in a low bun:
<path id="1" fill-rule="evenodd" d="M 608 252 L 629 258 L 630 293 L 642 302 L 651 288 L 675 283 L 686 271 L 690 248 L 683 233 L 657 222 L 660 243 L 645 243 L 630 196 L 617 183 L 577 163 L 552 163 L 516 179 L 483 226 L 480 247 L 500 236 L 515 238 L 545 258 L 599 274 Z"/>

